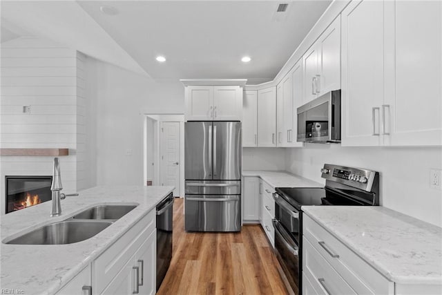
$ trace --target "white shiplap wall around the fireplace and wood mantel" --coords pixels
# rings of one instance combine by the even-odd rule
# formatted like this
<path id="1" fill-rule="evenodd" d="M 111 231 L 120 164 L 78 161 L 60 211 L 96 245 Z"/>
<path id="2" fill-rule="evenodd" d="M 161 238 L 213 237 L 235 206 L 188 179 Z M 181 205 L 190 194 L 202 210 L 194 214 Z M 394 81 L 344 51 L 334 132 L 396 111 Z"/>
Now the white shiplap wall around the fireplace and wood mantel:
<path id="1" fill-rule="evenodd" d="M 52 41 L 21 37 L 1 44 L 1 148 L 68 148 L 60 157 L 65 193 L 85 188 L 84 55 Z M 23 113 L 30 106 L 30 113 Z M 51 175 L 52 157 L 1 157 L 5 175 Z"/>

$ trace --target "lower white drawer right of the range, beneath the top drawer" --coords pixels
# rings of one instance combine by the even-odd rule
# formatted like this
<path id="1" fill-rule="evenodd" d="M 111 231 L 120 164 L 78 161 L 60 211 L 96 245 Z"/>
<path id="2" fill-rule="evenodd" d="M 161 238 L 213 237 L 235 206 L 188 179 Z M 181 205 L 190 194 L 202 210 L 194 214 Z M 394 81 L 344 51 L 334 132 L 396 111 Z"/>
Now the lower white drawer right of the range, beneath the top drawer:
<path id="1" fill-rule="evenodd" d="M 308 240 L 302 246 L 302 274 L 312 286 L 318 288 L 320 285 L 319 294 L 356 294 Z"/>

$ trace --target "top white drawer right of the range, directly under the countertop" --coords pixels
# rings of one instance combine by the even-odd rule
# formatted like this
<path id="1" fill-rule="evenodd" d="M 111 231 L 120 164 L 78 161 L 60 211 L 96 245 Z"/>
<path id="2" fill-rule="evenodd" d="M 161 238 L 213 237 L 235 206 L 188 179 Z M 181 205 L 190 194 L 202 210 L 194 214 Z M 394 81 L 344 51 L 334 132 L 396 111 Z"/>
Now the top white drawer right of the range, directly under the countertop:
<path id="1" fill-rule="evenodd" d="M 308 240 L 358 294 L 393 293 L 394 283 L 378 273 L 307 214 L 303 215 L 303 222 L 303 241 Z"/>

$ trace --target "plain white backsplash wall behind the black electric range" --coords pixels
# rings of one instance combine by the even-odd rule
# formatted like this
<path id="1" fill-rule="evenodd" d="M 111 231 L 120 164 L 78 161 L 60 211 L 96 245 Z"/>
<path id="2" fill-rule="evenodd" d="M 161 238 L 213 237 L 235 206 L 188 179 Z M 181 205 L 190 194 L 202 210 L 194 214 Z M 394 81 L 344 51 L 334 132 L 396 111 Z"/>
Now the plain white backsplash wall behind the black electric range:
<path id="1" fill-rule="evenodd" d="M 287 149 L 287 171 L 317 182 L 323 164 L 341 164 L 381 173 L 381 204 L 385 207 L 442 226 L 442 191 L 430 188 L 430 169 L 442 169 L 442 149 L 342 147 L 307 144 Z"/>

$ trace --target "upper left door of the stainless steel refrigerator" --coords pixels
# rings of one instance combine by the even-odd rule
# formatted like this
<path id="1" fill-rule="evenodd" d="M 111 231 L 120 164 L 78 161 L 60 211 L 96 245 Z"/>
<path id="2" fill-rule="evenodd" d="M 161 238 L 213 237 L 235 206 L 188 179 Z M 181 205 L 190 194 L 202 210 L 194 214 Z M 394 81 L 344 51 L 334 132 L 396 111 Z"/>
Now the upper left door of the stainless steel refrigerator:
<path id="1" fill-rule="evenodd" d="M 184 123 L 184 178 L 212 179 L 212 122 Z"/>

